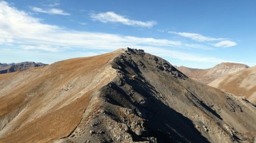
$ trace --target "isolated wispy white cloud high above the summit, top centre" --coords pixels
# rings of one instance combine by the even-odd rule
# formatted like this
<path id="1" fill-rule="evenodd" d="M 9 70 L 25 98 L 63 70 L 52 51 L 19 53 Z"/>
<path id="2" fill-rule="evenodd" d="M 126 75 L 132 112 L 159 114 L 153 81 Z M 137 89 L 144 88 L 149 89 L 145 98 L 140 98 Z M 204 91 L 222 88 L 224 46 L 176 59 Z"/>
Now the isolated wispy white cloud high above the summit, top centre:
<path id="1" fill-rule="evenodd" d="M 139 21 L 139 20 L 131 20 L 126 18 L 123 15 L 115 14 L 115 12 L 101 12 L 101 13 L 91 13 L 90 18 L 92 20 L 101 21 L 102 23 L 121 23 L 124 25 L 130 25 L 134 27 L 153 27 L 156 25 L 155 21 Z"/>

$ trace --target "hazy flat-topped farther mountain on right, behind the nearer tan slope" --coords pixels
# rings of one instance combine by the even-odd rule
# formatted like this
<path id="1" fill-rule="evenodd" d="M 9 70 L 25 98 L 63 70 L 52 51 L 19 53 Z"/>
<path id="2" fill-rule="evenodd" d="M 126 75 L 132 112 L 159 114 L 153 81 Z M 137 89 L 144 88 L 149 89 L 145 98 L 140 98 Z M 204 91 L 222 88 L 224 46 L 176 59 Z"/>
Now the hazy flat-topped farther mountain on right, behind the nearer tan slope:
<path id="1" fill-rule="evenodd" d="M 183 72 L 191 79 L 200 81 L 204 84 L 209 84 L 218 77 L 235 73 L 244 70 L 245 68 L 249 68 L 249 66 L 240 63 L 220 63 L 213 68 L 208 69 L 188 68 L 184 66 L 177 67 L 179 71 Z"/>

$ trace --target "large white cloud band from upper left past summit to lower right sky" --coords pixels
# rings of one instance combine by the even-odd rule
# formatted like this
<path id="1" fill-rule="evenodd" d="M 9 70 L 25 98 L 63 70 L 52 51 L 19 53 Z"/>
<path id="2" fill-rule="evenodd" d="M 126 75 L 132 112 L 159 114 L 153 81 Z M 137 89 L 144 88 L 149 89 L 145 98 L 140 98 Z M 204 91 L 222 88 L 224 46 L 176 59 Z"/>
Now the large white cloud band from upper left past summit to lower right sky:
<path id="1" fill-rule="evenodd" d="M 27 29 L 30 30 L 28 31 Z M 8 46 L 8 48 L 12 50 L 47 51 L 50 55 L 57 51 L 65 53 L 67 49 L 110 51 L 121 47 L 139 46 L 146 49 L 148 53 L 168 58 L 213 63 L 225 61 L 170 49 L 170 47 L 184 46 L 180 41 L 75 31 L 56 25 L 43 24 L 40 19 L 36 19 L 27 12 L 11 7 L 5 1 L 0 1 L 0 33 L 0 49 L 1 47 L 5 48 L 7 45 L 15 45 L 15 47 Z"/>

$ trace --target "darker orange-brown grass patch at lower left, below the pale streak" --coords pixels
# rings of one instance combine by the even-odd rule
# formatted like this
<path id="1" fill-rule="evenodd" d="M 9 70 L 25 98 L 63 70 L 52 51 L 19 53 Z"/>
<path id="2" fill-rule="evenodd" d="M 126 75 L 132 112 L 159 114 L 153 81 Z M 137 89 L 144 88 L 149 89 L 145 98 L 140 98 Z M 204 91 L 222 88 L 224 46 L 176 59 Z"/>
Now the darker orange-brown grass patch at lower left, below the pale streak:
<path id="1" fill-rule="evenodd" d="M 0 142 L 47 142 L 68 136 L 79 124 L 92 91 L 63 108 L 43 115 L 2 138 Z"/>

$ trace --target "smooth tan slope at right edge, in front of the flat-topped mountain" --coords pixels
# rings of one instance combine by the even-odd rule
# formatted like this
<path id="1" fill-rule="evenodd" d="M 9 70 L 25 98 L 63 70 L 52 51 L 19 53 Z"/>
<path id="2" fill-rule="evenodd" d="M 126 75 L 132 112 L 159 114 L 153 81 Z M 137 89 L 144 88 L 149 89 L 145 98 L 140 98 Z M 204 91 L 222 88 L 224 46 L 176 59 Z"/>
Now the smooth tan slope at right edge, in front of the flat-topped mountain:
<path id="1" fill-rule="evenodd" d="M 256 66 L 220 77 L 209 85 L 256 103 Z"/>

